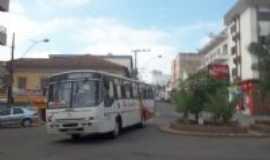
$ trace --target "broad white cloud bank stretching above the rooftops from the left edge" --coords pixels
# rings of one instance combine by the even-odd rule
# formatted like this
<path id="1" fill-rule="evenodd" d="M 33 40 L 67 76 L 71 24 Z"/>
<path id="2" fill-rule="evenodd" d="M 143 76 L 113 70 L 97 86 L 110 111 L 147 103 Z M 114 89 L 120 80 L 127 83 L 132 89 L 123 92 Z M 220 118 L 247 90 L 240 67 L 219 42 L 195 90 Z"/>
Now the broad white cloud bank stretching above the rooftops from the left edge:
<path id="1" fill-rule="evenodd" d="M 92 0 L 36 0 L 39 5 L 44 4 L 47 9 L 74 8 L 91 3 Z M 57 17 L 47 20 L 34 20 L 25 13 L 25 6 L 19 0 L 11 1 L 11 12 L 0 16 L 0 22 L 5 22 L 8 28 L 9 41 L 11 33 L 16 32 L 16 57 L 20 57 L 30 45 L 30 40 L 38 40 L 48 35 L 52 36 L 54 47 L 67 49 L 74 48 L 68 53 L 73 54 L 129 54 L 134 49 L 151 49 L 149 53 L 138 56 L 138 66 L 144 80 L 150 79 L 152 70 L 160 70 L 169 74 L 171 62 L 179 49 L 191 41 L 198 42 L 198 47 L 207 42 L 205 35 L 220 29 L 219 23 L 197 22 L 182 27 L 175 26 L 172 31 L 158 28 L 136 28 L 110 17 Z M 46 10 L 47 12 L 49 10 Z M 199 38 L 195 38 L 196 35 Z M 192 36 L 191 36 L 192 35 Z M 194 37 L 193 37 L 194 36 Z M 54 42 L 55 39 L 61 39 Z M 57 40 L 56 40 L 57 41 Z M 68 42 L 69 41 L 69 42 Z M 71 44 L 72 47 L 69 45 Z M 189 48 L 190 49 L 190 48 Z M 194 48 L 193 48 L 194 49 Z M 47 57 L 55 48 L 38 46 L 27 57 Z M 182 51 L 182 50 L 180 50 Z M 0 59 L 10 57 L 10 48 L 0 48 Z M 158 58 L 162 55 L 162 58 Z"/>

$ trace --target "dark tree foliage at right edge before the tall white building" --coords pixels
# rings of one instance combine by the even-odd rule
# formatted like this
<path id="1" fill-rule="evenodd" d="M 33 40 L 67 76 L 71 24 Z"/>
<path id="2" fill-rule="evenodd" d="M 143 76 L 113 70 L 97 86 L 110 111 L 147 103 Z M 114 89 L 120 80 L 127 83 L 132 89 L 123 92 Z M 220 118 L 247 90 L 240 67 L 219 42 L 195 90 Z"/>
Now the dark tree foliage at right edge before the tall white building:
<path id="1" fill-rule="evenodd" d="M 251 43 L 249 51 L 257 57 L 253 69 L 259 72 L 258 87 L 263 95 L 270 93 L 270 35 Z"/>

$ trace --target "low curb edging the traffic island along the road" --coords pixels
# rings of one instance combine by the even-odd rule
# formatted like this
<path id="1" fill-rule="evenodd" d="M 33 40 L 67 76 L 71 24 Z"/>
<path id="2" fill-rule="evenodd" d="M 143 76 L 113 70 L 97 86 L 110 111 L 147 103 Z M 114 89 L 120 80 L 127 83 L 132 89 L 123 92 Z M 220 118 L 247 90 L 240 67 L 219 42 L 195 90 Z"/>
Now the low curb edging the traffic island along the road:
<path id="1" fill-rule="evenodd" d="M 256 131 L 250 131 L 247 134 L 202 133 L 202 132 L 188 132 L 188 131 L 176 130 L 176 129 L 172 129 L 169 125 L 160 126 L 159 129 L 161 132 L 164 132 L 164 133 L 170 133 L 170 134 L 182 135 L 182 136 L 192 136 L 192 137 L 270 138 L 270 135 L 258 133 Z"/>

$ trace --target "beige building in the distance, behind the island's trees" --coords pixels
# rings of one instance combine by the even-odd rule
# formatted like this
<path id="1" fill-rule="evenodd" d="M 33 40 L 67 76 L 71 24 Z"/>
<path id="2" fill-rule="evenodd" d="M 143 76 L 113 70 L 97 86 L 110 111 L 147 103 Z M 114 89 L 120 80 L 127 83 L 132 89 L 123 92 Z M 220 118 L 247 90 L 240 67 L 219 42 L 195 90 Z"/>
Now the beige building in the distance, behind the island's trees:
<path id="1" fill-rule="evenodd" d="M 172 63 L 171 88 L 176 89 L 181 80 L 186 80 L 197 72 L 203 55 L 197 53 L 179 53 Z"/>

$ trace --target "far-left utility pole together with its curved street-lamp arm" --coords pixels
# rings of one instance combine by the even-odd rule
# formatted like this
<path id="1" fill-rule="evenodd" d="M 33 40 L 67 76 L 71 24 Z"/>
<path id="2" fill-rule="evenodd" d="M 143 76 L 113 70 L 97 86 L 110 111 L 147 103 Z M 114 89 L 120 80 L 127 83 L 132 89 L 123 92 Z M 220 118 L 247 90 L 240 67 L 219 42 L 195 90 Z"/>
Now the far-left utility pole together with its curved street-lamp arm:
<path id="1" fill-rule="evenodd" d="M 33 44 L 24 52 L 24 57 L 35 45 L 38 43 L 48 43 L 49 39 L 43 39 L 41 41 L 33 41 Z M 8 99 L 7 99 L 7 105 L 8 107 L 11 107 L 14 103 L 14 97 L 13 97 L 13 82 L 14 82 L 14 52 L 15 52 L 15 33 L 12 34 L 12 44 L 11 44 L 11 60 L 8 64 L 8 71 L 9 71 L 9 81 L 8 81 Z"/>

